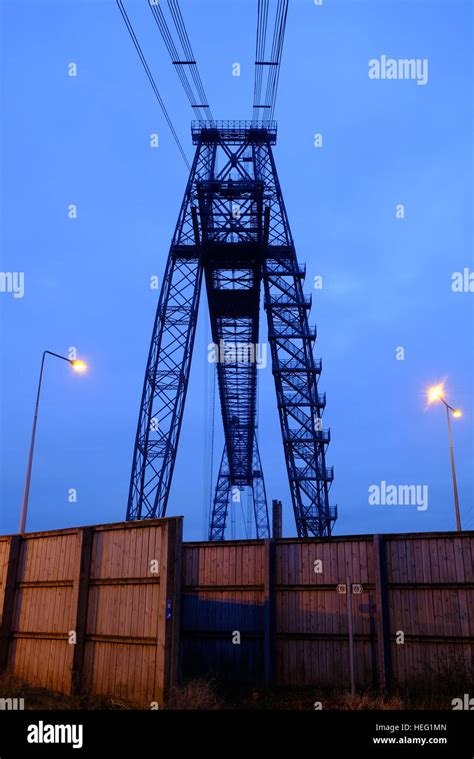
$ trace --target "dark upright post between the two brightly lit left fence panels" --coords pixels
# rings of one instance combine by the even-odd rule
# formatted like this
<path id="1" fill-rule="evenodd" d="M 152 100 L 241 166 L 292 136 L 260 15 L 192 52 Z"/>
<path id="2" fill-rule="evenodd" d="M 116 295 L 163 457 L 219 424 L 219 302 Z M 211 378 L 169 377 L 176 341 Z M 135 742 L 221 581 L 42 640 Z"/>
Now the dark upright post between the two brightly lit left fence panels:
<path id="1" fill-rule="evenodd" d="M 76 643 L 72 654 L 71 693 L 80 693 L 84 685 L 82 673 L 86 642 L 92 538 L 92 527 L 83 527 L 77 532 L 79 545 L 72 591 L 73 630 L 76 633 Z"/>

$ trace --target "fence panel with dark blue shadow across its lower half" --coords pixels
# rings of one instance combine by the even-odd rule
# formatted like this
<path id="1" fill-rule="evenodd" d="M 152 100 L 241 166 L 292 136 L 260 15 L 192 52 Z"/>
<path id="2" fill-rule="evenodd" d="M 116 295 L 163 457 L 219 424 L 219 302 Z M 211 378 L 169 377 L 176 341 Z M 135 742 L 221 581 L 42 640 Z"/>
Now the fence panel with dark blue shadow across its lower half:
<path id="1" fill-rule="evenodd" d="M 263 541 L 183 546 L 181 672 L 258 682 L 264 677 L 267 583 Z M 240 643 L 235 633 L 240 635 Z"/>

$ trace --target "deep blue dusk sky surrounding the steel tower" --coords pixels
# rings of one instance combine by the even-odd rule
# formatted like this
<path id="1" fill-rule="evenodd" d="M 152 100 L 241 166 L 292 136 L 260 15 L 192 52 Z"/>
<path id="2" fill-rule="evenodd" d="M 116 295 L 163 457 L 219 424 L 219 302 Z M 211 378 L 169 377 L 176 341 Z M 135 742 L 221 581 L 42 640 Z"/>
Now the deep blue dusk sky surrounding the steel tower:
<path id="1" fill-rule="evenodd" d="M 126 7 L 192 158 L 193 114 L 147 2 Z M 256 0 L 181 8 L 214 116 L 251 118 Z M 467 269 L 467 282 L 474 271 L 472 15 L 468 0 L 290 0 L 274 153 L 313 292 L 334 534 L 455 528 L 446 418 L 424 392 L 441 380 L 464 412 L 454 450 L 463 527 L 474 528 L 474 292 L 452 288 L 453 273 Z M 48 357 L 27 528 L 122 521 L 158 299 L 150 278 L 161 280 L 187 171 L 114 0 L 4 0 L 1 33 L 0 269 L 23 273 L 24 292 L 0 292 L 0 532 L 18 529 L 45 349 L 76 348 L 90 368 Z M 426 60 L 427 81 L 370 78 L 381 56 Z M 188 540 L 205 539 L 210 497 L 206 309 L 204 294 L 167 511 L 185 517 Z M 291 536 L 271 367 L 258 377 L 267 494 Z M 215 479 L 217 404 L 213 437 Z M 426 486 L 427 508 L 370 504 L 382 482 Z"/>

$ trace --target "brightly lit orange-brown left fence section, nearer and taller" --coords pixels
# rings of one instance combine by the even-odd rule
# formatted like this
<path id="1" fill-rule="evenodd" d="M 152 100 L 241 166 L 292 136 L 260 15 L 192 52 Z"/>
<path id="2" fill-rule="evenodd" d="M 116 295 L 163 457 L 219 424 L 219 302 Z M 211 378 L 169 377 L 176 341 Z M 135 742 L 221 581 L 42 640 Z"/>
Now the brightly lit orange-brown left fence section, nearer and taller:
<path id="1" fill-rule="evenodd" d="M 181 519 L 0 537 L 0 668 L 61 693 L 163 703 Z"/>

